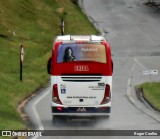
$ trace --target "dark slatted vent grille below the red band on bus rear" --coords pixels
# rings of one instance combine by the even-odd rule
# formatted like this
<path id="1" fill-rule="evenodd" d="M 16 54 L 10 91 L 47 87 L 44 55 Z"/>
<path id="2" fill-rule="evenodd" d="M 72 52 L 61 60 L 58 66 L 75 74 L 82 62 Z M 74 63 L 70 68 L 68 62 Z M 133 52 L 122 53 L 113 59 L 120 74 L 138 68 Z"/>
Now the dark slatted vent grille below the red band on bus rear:
<path id="1" fill-rule="evenodd" d="M 67 82 L 98 82 L 102 79 L 101 76 L 62 76 L 61 79 Z"/>

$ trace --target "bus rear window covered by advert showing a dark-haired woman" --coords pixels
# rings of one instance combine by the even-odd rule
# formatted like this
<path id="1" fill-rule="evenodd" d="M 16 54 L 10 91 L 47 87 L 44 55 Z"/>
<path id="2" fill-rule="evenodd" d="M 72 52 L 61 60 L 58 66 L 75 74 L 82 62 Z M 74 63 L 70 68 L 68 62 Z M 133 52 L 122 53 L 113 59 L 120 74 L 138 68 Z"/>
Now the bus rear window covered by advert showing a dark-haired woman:
<path id="1" fill-rule="evenodd" d="M 105 46 L 96 43 L 61 44 L 58 47 L 57 63 L 73 61 L 107 63 Z"/>

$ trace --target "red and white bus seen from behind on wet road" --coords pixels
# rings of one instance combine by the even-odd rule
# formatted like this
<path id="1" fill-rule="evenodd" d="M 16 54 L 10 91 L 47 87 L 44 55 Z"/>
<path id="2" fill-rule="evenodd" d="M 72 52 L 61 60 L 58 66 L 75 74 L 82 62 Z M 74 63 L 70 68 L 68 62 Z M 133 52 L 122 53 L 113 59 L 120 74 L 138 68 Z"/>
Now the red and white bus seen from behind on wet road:
<path id="1" fill-rule="evenodd" d="M 111 111 L 113 63 L 102 36 L 58 36 L 48 62 L 52 115 L 96 116 Z"/>

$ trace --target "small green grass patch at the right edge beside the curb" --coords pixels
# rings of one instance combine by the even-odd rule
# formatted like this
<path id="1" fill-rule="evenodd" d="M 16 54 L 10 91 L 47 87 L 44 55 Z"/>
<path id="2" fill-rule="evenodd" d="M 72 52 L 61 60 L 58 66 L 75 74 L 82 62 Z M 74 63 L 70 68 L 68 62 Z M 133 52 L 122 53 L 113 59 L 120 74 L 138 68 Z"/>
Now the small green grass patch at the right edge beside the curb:
<path id="1" fill-rule="evenodd" d="M 160 110 L 160 83 L 144 83 L 143 88 L 145 98 Z"/>

